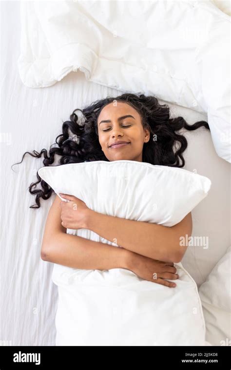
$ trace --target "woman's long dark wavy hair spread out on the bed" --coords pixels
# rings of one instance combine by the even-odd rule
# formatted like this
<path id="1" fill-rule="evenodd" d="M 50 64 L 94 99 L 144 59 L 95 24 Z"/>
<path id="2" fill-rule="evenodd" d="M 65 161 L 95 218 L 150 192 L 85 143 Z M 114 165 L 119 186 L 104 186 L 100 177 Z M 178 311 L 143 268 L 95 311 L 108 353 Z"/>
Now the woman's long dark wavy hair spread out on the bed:
<path id="1" fill-rule="evenodd" d="M 144 143 L 143 146 L 143 162 L 153 165 L 184 167 L 185 160 L 182 153 L 187 148 L 188 142 L 185 136 L 177 132 L 182 128 L 196 130 L 201 126 L 210 130 L 206 121 L 199 121 L 193 125 L 189 125 L 183 117 L 170 118 L 169 106 L 167 104 L 159 104 L 157 98 L 154 96 L 127 93 L 118 97 L 106 97 L 96 100 L 82 109 L 75 109 L 70 116 L 70 121 L 65 121 L 62 124 L 62 134 L 56 138 L 56 144 L 58 146 L 54 147 L 53 145 L 55 144 L 52 144 L 49 154 L 46 149 L 42 149 L 40 153 L 36 150 L 32 153 L 25 152 L 22 160 L 25 154 L 28 153 L 30 156 L 36 158 L 40 158 L 43 154 L 44 166 L 52 165 L 55 161 L 55 155 L 61 156 L 58 161 L 59 165 L 79 163 L 85 160 L 108 161 L 98 140 L 97 118 L 103 107 L 115 100 L 131 105 L 139 113 L 143 127 L 148 128 L 150 131 L 150 140 Z M 75 113 L 77 111 L 81 112 L 82 117 L 78 118 Z M 72 138 L 69 137 L 69 134 L 71 134 Z M 76 140 L 73 139 L 73 136 Z M 154 136 L 156 139 L 153 138 Z M 177 142 L 179 143 L 179 148 L 176 149 Z M 40 198 L 48 199 L 53 192 L 53 189 L 41 179 L 38 172 L 37 178 L 38 181 L 31 183 L 28 187 L 30 194 L 36 195 L 36 205 L 30 206 L 30 208 L 39 208 Z M 41 189 L 37 188 L 39 182 Z"/>

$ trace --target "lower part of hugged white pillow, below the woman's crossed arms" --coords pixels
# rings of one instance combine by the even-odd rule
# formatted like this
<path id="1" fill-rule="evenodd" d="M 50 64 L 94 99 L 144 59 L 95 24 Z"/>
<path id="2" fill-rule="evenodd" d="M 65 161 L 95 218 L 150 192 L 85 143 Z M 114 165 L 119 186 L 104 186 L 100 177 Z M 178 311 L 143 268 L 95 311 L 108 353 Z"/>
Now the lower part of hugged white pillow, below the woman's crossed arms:
<path id="1" fill-rule="evenodd" d="M 56 345 L 208 345 L 196 283 L 181 263 L 175 267 L 179 279 L 169 288 L 126 269 L 77 270 L 55 264 Z"/>

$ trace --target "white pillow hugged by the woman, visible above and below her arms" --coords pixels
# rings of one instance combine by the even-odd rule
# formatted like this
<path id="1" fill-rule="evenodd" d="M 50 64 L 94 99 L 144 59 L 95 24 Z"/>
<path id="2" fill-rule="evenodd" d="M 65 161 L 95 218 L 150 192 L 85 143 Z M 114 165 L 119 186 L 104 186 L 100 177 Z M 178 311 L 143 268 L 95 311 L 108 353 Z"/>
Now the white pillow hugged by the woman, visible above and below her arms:
<path id="1" fill-rule="evenodd" d="M 96 212 L 172 226 L 208 194 L 209 178 L 180 168 L 130 160 L 42 167 L 58 193 L 75 195 Z M 68 234 L 114 245 L 96 233 Z M 65 246 L 63 246 L 65 248 Z M 59 345 L 208 345 L 196 283 L 181 263 L 175 288 L 130 270 L 82 270 L 54 264 Z"/>

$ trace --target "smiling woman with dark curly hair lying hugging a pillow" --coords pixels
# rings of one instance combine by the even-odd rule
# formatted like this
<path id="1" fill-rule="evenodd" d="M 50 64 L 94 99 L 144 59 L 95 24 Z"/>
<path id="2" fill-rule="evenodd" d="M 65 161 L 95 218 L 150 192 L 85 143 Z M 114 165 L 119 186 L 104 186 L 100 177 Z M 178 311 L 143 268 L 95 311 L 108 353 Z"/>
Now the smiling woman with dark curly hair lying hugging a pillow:
<path id="1" fill-rule="evenodd" d="M 106 97 L 80 111 L 84 122 L 78 123 L 74 111 L 71 120 L 63 123 L 63 133 L 57 137 L 58 141 L 56 139 L 58 147 L 51 147 L 49 155 L 45 149 L 29 154 L 37 158 L 43 154 L 44 166 L 51 165 L 57 154 L 61 156 L 60 165 L 125 159 L 183 167 L 182 153 L 187 148 L 187 140 L 177 132 L 182 128 L 195 130 L 201 126 L 209 129 L 205 121 L 188 125 L 183 117 L 170 118 L 169 107 L 160 105 L 153 96 L 123 94 L 116 98 Z M 68 130 L 77 140 L 69 138 Z M 180 144 L 178 148 L 177 142 Z M 38 174 L 37 177 L 39 181 L 29 187 L 30 193 L 36 195 L 37 207 L 30 208 L 39 208 L 39 198 L 48 199 L 53 192 Z M 35 189 L 39 182 L 41 190 Z M 61 196 L 69 202 L 60 202 L 57 195 L 51 206 L 41 247 L 43 260 L 77 269 L 125 268 L 145 280 L 171 288 L 176 286 L 168 280 L 179 277 L 174 262 L 180 262 L 186 251 L 186 247 L 179 246 L 179 236 L 192 234 L 191 213 L 177 225 L 165 227 L 99 214 L 75 196 Z M 73 209 L 75 204 L 77 211 Z M 112 242 L 116 235 L 116 244 L 121 248 L 66 234 L 67 228 L 89 229 Z"/>

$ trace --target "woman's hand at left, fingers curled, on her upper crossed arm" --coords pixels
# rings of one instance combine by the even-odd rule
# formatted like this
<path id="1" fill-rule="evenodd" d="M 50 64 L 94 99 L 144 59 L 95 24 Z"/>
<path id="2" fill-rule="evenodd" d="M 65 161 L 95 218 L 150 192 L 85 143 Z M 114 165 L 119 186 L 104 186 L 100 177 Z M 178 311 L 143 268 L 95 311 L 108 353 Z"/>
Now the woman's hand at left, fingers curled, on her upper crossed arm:
<path id="1" fill-rule="evenodd" d="M 68 202 L 62 200 L 61 225 L 67 229 L 85 229 L 88 212 L 91 211 L 86 204 L 74 195 L 59 194 Z"/>

